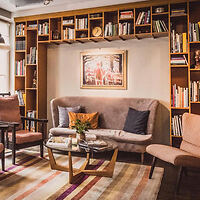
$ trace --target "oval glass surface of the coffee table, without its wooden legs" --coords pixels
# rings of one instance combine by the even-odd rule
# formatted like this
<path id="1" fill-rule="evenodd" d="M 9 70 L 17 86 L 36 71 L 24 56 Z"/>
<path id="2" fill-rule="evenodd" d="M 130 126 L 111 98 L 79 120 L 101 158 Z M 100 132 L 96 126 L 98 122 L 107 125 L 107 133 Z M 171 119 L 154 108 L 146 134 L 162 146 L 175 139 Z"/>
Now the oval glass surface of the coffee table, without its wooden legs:
<path id="1" fill-rule="evenodd" d="M 91 145 L 91 141 L 88 144 L 88 141 L 80 142 L 78 145 L 67 145 L 67 143 L 56 143 L 52 140 L 58 137 L 51 137 L 44 140 L 44 145 L 47 148 L 52 150 L 64 151 L 64 152 L 82 152 L 82 153 L 100 153 L 100 152 L 107 152 L 116 149 L 117 143 L 114 140 L 106 139 L 106 138 L 98 138 L 101 142 L 106 143 L 104 146 L 95 146 Z M 82 144 L 82 145 L 81 145 Z"/>

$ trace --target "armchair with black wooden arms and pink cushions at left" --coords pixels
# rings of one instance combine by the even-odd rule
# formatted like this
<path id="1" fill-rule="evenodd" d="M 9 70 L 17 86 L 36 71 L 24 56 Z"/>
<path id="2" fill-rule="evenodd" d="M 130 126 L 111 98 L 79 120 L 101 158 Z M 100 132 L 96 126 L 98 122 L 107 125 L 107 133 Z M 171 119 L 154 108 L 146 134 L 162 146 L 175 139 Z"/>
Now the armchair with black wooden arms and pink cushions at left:
<path id="1" fill-rule="evenodd" d="M 9 125 L 6 133 L 6 148 L 12 150 L 13 164 L 15 164 L 16 150 L 22 148 L 40 145 L 40 155 L 43 157 L 45 124 L 48 120 L 21 117 L 18 97 L 13 95 L 0 97 L 0 121 Z M 35 132 L 31 131 L 31 122 L 35 123 Z"/>

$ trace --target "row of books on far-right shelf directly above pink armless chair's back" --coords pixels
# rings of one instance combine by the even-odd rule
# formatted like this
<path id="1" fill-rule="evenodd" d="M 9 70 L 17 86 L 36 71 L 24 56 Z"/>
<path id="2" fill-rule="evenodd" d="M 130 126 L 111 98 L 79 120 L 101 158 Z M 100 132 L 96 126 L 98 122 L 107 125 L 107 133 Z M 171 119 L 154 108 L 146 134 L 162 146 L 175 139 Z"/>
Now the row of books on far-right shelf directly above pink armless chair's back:
<path id="1" fill-rule="evenodd" d="M 200 101 L 200 81 L 190 82 L 190 100 L 192 102 Z"/>

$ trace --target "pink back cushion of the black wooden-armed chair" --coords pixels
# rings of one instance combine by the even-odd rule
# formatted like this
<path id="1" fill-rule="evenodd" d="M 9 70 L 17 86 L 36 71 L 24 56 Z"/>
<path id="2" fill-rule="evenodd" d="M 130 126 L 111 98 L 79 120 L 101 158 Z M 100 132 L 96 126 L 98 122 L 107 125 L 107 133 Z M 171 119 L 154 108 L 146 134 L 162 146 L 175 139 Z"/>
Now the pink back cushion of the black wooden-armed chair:
<path id="1" fill-rule="evenodd" d="M 17 122 L 20 125 L 16 128 L 16 130 L 22 129 L 17 94 L 8 97 L 0 97 L 0 121 Z"/>

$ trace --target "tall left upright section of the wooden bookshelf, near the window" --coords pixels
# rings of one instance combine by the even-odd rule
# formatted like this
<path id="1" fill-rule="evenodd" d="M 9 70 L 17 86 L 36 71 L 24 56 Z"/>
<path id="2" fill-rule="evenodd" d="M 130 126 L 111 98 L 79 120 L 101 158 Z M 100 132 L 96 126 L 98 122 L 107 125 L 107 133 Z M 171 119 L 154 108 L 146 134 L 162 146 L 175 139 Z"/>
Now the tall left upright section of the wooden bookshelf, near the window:
<path id="1" fill-rule="evenodd" d="M 49 35 L 43 37 L 44 34 L 39 32 L 39 25 L 46 25 L 48 21 L 49 19 L 16 23 L 14 89 L 19 96 L 20 113 L 23 116 L 34 112 L 35 117 L 46 118 L 47 47 L 40 42 L 49 40 Z"/>

